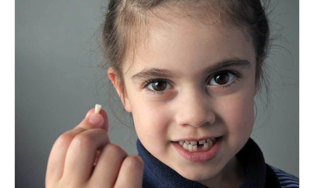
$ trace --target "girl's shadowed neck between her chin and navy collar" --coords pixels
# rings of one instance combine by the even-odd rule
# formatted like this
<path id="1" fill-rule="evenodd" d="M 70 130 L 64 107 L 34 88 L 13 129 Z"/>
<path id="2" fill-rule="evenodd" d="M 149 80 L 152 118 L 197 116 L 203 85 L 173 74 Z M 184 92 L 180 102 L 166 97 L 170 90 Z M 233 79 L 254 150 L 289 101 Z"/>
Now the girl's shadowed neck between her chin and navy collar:
<path id="1" fill-rule="evenodd" d="M 210 188 L 238 188 L 245 178 L 245 168 L 234 156 L 215 177 L 199 181 Z"/>

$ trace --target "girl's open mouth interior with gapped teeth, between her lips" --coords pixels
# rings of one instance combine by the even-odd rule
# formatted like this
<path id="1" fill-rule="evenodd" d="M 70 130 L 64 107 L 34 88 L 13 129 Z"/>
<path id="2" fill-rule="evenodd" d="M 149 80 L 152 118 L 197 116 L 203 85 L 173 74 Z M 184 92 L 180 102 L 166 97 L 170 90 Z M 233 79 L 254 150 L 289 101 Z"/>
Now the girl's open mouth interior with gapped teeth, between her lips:
<path id="1" fill-rule="evenodd" d="M 181 140 L 178 141 L 178 144 L 181 145 L 184 149 L 189 152 L 205 152 L 213 148 L 217 138 L 208 138 L 201 141 L 192 141 L 192 140 Z"/>

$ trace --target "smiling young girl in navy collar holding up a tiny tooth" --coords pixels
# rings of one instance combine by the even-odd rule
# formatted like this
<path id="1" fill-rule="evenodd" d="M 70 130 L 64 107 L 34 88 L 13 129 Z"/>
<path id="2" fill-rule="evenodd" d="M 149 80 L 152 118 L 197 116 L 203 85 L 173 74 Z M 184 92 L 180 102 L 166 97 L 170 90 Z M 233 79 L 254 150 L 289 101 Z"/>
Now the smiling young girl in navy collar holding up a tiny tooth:
<path id="1" fill-rule="evenodd" d="M 111 0 L 103 49 L 139 155 L 91 109 L 55 142 L 46 187 L 299 187 L 250 138 L 268 40 L 259 0 Z"/>

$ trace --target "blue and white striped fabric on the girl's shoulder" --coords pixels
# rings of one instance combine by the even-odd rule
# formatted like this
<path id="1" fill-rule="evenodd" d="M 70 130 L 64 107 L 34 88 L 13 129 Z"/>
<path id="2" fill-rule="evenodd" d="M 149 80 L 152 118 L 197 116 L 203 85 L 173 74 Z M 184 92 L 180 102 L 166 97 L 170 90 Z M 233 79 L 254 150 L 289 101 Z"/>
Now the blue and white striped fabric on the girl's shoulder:
<path id="1" fill-rule="evenodd" d="M 270 166 L 270 165 L 269 165 Z M 281 188 L 299 188 L 299 178 L 295 177 L 292 174 L 279 170 L 276 167 L 270 166 L 273 171 L 276 173 Z"/>

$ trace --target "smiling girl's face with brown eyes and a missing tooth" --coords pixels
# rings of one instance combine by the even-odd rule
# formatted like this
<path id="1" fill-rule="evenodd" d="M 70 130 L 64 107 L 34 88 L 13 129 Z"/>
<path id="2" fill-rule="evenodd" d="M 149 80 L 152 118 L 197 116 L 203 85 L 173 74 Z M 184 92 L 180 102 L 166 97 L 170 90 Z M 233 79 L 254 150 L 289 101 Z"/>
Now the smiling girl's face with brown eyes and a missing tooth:
<path id="1" fill-rule="evenodd" d="M 224 177 L 253 128 L 254 48 L 242 30 L 219 22 L 176 18 L 150 29 L 124 69 L 138 138 L 187 179 Z"/>

